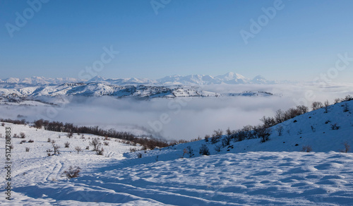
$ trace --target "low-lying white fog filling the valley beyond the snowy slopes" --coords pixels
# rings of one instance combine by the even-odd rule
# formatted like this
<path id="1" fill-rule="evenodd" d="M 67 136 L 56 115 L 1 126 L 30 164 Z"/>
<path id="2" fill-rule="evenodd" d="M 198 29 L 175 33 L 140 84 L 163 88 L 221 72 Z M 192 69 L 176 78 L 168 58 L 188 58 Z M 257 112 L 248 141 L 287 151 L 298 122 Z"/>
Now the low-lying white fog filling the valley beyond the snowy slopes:
<path id="1" fill-rule="evenodd" d="M 352 95 L 353 85 L 336 84 L 330 87 L 313 85 L 207 85 L 212 92 L 265 91 L 271 97 L 189 97 L 177 99 L 116 99 L 113 97 L 66 97 L 61 107 L 0 107 L 1 118 L 16 119 L 18 114 L 28 121 L 49 119 L 101 126 L 137 134 L 153 133 L 167 140 L 204 137 L 220 128 L 225 131 L 245 125 L 261 123 L 262 116 L 273 116 L 277 109 L 288 109 L 326 99 Z M 19 118 L 23 119 L 23 118 Z M 20 132 L 20 131 L 19 131 Z"/>

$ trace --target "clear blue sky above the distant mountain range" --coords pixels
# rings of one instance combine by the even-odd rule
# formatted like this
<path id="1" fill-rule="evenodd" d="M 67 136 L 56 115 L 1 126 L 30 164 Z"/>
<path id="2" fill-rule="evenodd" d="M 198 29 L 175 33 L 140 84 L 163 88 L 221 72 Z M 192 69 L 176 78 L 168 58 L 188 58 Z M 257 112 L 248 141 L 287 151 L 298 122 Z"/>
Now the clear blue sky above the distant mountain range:
<path id="1" fill-rule="evenodd" d="M 111 45 L 119 54 L 98 73 L 107 78 L 233 71 L 312 80 L 335 66 L 337 54 L 353 56 L 351 0 L 283 0 L 245 44 L 240 31 L 249 32 L 250 20 L 274 2 L 171 0 L 156 15 L 150 0 L 52 0 L 10 37 L 6 23 L 16 25 L 16 12 L 23 16 L 30 6 L 1 0 L 0 78 L 78 78 Z M 335 80 L 352 82 L 352 70 L 353 61 Z"/>

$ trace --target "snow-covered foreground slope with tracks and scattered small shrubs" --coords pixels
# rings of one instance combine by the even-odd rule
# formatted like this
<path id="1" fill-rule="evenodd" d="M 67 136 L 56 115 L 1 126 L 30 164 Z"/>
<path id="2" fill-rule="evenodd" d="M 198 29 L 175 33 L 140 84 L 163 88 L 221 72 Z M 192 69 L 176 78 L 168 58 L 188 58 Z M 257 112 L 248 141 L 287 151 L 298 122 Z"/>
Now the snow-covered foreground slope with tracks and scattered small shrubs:
<path id="1" fill-rule="evenodd" d="M 347 104 L 347 105 L 346 105 Z M 270 139 L 243 140 L 215 150 L 220 142 L 199 140 L 161 149 L 128 152 L 131 145 L 107 140 L 104 155 L 85 149 L 95 138 L 73 138 L 5 123 L 13 138 L 13 202 L 2 205 L 352 205 L 353 101 L 317 109 L 276 126 Z M 331 125 L 338 126 L 332 129 Z M 278 135 L 276 128 L 284 132 Z M 313 128 L 311 127 L 313 126 Z M 287 132 L 289 131 L 289 132 Z M 0 133 L 5 133 L 0 126 Z M 59 138 L 60 135 L 60 138 Z M 52 143 L 61 154 L 47 156 Z M 90 138 L 90 139 L 88 139 Z M 223 136 L 225 138 L 225 136 Z M 28 143 L 28 140 L 34 143 Z M 100 137 L 101 141 L 102 137 Z M 64 143 L 70 143 L 65 148 Z M 0 138 L 4 151 L 5 139 Z M 201 147 L 210 155 L 201 156 Z M 311 146 L 312 152 L 299 152 Z M 30 151 L 25 152 L 25 147 Z M 91 148 L 92 149 L 92 148 Z M 193 152 L 190 152 L 193 151 Z M 2 152 L 4 154 L 4 152 Z M 1 163 L 3 164 L 3 163 Z M 68 166 L 80 166 L 80 177 L 67 180 Z M 3 165 L 1 165 L 4 168 Z M 1 176 L 4 176 L 4 169 Z M 1 179 L 4 185 L 4 178 Z M 100 202 L 98 204 L 98 202 Z"/>

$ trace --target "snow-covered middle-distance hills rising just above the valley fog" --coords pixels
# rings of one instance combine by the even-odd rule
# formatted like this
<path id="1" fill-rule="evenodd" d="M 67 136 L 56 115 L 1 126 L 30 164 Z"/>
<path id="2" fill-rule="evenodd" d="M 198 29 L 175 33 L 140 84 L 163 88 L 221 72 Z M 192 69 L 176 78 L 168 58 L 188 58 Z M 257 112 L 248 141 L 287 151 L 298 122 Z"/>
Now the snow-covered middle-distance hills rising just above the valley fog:
<path id="1" fill-rule="evenodd" d="M 269 92 L 217 93 L 202 90 L 195 86 L 145 86 L 145 85 L 107 85 L 104 83 L 65 83 L 62 85 L 45 85 L 37 87 L 1 88 L 1 102 L 22 102 L 29 99 L 46 101 L 46 97 L 60 96 L 83 97 L 135 97 L 135 98 L 174 98 L 174 97 L 220 97 L 220 96 L 270 96 Z"/>

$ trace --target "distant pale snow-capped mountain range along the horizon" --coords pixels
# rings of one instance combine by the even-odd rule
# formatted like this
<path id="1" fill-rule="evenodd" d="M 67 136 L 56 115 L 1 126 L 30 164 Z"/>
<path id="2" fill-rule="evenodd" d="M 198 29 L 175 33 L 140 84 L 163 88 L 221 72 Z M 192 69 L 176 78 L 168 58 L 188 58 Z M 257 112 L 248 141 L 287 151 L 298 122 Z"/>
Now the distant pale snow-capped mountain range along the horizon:
<path id="1" fill-rule="evenodd" d="M 258 75 L 252 80 L 244 77 L 238 73 L 226 73 L 224 75 L 169 75 L 157 80 L 150 80 L 148 78 L 104 78 L 95 76 L 90 80 L 80 80 L 76 78 L 44 78 L 44 77 L 31 77 L 31 78 L 6 78 L 0 80 L 0 87 L 7 87 L 8 84 L 13 86 L 33 86 L 33 85 L 58 85 L 64 83 L 104 83 L 110 85 L 213 85 L 213 84 L 269 84 L 276 83 L 269 81 Z"/>

